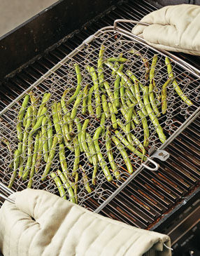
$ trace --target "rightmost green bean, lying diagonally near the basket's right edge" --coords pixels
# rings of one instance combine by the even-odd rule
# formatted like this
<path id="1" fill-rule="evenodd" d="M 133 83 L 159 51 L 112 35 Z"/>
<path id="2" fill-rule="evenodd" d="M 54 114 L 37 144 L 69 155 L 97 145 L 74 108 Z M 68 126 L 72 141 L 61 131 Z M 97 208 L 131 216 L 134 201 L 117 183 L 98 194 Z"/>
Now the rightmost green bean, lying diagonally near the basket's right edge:
<path id="1" fill-rule="evenodd" d="M 172 81 L 172 85 L 174 90 L 176 90 L 176 93 L 178 93 L 178 95 L 181 97 L 181 99 L 188 105 L 191 106 L 193 105 L 193 103 L 184 95 L 183 90 L 180 89 L 180 87 L 178 86 L 178 83 L 176 81 L 176 79 L 173 76 L 173 72 L 172 72 L 172 67 L 171 67 L 171 62 L 169 60 L 168 57 L 165 58 L 165 64 L 167 67 L 167 72 L 169 74 L 169 79 L 173 79 Z"/>

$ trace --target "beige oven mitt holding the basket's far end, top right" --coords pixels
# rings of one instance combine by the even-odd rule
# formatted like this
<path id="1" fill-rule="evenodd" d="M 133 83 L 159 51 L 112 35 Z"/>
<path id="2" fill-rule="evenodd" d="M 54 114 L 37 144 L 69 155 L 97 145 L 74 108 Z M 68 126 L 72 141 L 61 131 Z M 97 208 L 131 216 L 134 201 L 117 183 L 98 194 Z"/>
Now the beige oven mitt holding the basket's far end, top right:
<path id="1" fill-rule="evenodd" d="M 200 55 L 200 6 L 180 4 L 154 11 L 136 25 L 132 33 L 150 46 L 192 55 Z"/>

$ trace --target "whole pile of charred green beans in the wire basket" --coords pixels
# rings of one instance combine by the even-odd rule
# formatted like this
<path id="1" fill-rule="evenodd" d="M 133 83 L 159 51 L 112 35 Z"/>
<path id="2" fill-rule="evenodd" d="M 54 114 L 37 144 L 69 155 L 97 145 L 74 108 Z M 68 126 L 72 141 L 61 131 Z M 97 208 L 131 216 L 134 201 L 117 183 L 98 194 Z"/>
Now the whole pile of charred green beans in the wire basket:
<path id="1" fill-rule="evenodd" d="M 120 170 L 134 172 L 133 156 L 146 161 L 149 123 L 160 142 L 166 141 L 158 118 L 167 112 L 169 85 L 172 83 L 187 105 L 192 102 L 179 88 L 169 58 L 165 59 L 169 79 L 159 95 L 155 79 L 157 55 L 150 65 L 141 53 L 136 50 L 130 53 L 143 62 L 145 84 L 129 70 L 127 58 L 120 54 L 118 58 L 106 59 L 106 48 L 101 45 L 97 67 L 80 67 L 76 63 L 76 88 L 64 90 L 60 100 L 55 100 L 51 93 L 44 93 L 42 99 L 32 91 L 24 96 L 17 116 L 15 151 L 3 139 L 13 157 L 8 187 L 13 186 L 17 177 L 27 182 L 27 187 L 34 187 L 34 179 L 40 175 L 41 184 L 46 180 L 55 182 L 62 198 L 78 203 L 81 184 L 90 194 L 98 184 L 99 173 L 113 182 L 121 179 Z M 87 83 L 83 83 L 83 71 L 87 73 Z M 143 141 L 136 136 L 136 127 L 143 130 Z M 116 154 L 124 160 L 123 166 L 116 163 Z M 73 161 L 73 168 L 69 168 L 69 161 Z"/>

